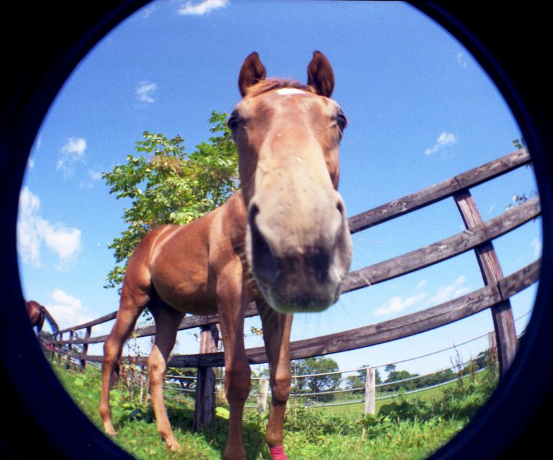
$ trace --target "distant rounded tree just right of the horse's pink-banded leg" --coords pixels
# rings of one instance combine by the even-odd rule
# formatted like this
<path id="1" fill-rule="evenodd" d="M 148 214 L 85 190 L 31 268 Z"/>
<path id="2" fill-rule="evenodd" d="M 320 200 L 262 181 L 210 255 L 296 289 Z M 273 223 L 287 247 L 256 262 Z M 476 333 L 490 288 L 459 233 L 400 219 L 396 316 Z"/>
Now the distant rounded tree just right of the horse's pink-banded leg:
<path id="1" fill-rule="evenodd" d="M 305 358 L 297 360 L 292 365 L 294 374 L 310 375 L 324 374 L 326 372 L 339 371 L 338 363 L 331 358 Z M 297 381 L 296 381 L 297 380 Z M 320 393 L 337 389 L 341 382 L 341 374 L 330 374 L 327 376 L 312 376 L 295 379 L 292 376 L 294 393 Z"/>

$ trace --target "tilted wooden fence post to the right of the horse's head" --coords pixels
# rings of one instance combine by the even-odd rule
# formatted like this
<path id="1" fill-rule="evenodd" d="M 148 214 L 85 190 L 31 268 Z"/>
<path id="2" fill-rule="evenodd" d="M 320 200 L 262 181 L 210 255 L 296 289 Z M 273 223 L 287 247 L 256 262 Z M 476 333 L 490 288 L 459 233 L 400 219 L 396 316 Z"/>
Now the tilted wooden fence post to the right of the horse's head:
<path id="1" fill-rule="evenodd" d="M 458 192 L 453 195 L 453 199 L 455 199 L 467 230 L 484 223 L 469 190 Z M 476 259 L 478 260 L 480 272 L 486 286 L 496 284 L 503 278 L 503 271 L 501 270 L 499 259 L 491 241 L 478 246 L 474 249 L 474 252 L 476 253 Z M 496 331 L 499 374 L 500 376 L 504 376 L 513 362 L 516 353 L 516 330 L 511 302 L 505 300 L 491 306 L 491 316 L 494 320 L 494 329 Z"/>

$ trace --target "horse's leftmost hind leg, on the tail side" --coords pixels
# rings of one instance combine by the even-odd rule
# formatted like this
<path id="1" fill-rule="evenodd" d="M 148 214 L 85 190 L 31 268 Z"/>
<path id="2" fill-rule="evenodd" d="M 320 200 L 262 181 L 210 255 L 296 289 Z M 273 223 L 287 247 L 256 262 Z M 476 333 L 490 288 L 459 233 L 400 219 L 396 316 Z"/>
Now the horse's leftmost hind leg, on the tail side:
<path id="1" fill-rule="evenodd" d="M 102 362 L 102 394 L 100 396 L 100 406 L 98 407 L 100 417 L 104 423 L 104 431 L 115 436 L 115 427 L 111 421 L 111 409 L 109 407 L 109 390 L 114 381 L 113 371 L 118 366 L 124 342 L 131 336 L 136 320 L 144 310 L 148 302 L 147 295 L 136 299 L 129 293 L 129 289 L 123 286 L 120 308 L 117 313 L 117 319 L 109 333 L 109 337 L 104 342 L 104 360 Z"/>

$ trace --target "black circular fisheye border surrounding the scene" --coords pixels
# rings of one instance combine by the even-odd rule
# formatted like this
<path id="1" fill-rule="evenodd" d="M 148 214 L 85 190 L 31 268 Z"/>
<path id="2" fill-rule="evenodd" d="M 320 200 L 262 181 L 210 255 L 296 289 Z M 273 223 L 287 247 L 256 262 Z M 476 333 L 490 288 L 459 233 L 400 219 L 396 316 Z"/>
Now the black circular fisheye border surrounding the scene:
<path id="1" fill-rule="evenodd" d="M 0 305 L 0 388 L 8 403 L 2 458 L 131 458 L 88 421 L 64 392 L 39 348 L 23 308 L 16 252 L 19 191 L 46 111 L 88 50 L 145 1 L 11 5 L 3 12 L 0 93 L 0 212 L 4 296 Z M 476 57 L 503 94 L 532 155 L 543 212 L 543 259 L 532 319 L 509 374 L 465 430 L 431 458 L 491 459 L 547 448 L 538 427 L 553 409 L 551 94 L 543 57 L 545 8 L 519 4 L 412 3 Z M 78 18 L 68 21 L 67 18 Z M 536 59 L 534 59 L 534 57 Z"/>

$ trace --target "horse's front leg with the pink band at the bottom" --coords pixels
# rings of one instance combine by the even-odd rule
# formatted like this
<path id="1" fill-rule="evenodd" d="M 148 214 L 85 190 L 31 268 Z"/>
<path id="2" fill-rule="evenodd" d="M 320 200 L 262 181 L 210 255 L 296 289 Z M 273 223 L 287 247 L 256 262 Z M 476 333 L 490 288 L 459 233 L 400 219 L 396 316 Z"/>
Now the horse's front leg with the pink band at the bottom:
<path id="1" fill-rule="evenodd" d="M 283 424 L 286 403 L 290 397 L 290 329 L 293 315 L 272 309 L 264 300 L 256 302 L 263 323 L 263 340 L 270 366 L 271 405 L 265 433 L 271 458 L 286 460 L 283 448 Z"/>

